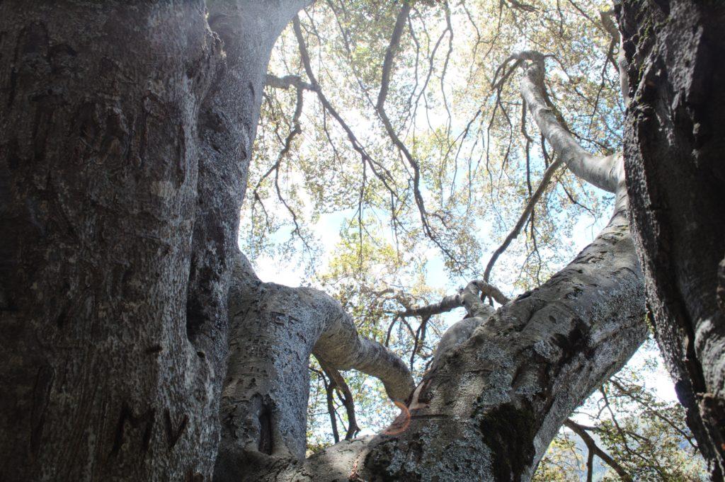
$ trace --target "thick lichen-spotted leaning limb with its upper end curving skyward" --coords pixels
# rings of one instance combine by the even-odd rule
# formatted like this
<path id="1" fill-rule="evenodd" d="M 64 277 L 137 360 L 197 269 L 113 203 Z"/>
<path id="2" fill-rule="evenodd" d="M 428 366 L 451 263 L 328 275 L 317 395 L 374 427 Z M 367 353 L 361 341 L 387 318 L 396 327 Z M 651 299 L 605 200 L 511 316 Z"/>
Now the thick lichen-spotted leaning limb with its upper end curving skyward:
<path id="1" fill-rule="evenodd" d="M 642 271 L 621 157 L 582 158 L 542 104 L 543 58 L 521 59 L 522 94 L 539 128 L 576 175 L 616 192 L 607 228 L 547 283 L 495 312 L 477 296 L 476 282 L 423 307 L 465 306 L 468 317 L 444 334 L 434 367 L 389 429 L 307 460 L 247 451 L 244 480 L 529 480 L 566 418 L 644 341 Z"/>

